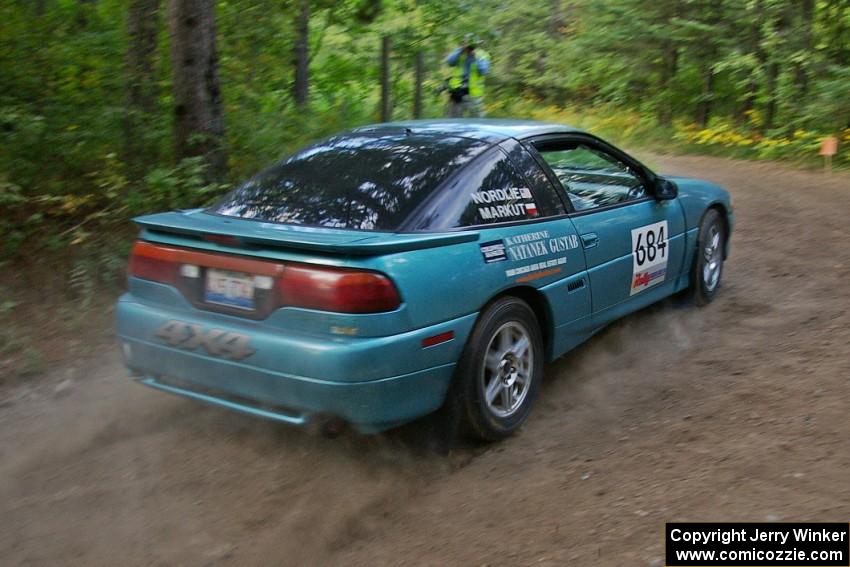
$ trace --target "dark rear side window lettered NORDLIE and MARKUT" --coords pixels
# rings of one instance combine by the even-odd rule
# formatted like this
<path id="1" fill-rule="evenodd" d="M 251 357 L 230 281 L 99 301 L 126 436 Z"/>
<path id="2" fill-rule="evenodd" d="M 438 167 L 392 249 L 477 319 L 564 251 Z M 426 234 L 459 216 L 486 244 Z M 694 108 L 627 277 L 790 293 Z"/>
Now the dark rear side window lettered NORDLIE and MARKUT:
<path id="1" fill-rule="evenodd" d="M 563 212 L 538 202 L 524 175 L 501 148 L 493 148 L 449 180 L 418 210 L 412 230 L 446 230 L 535 219 Z"/>

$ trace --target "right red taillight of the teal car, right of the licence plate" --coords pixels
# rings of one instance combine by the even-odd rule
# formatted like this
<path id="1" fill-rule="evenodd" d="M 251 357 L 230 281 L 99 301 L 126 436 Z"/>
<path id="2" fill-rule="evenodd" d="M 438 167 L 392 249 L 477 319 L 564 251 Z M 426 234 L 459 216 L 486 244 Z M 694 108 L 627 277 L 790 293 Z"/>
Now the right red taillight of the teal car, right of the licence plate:
<path id="1" fill-rule="evenodd" d="M 281 303 L 338 313 L 379 313 L 401 305 L 384 275 L 349 269 L 287 264 L 278 278 Z"/>

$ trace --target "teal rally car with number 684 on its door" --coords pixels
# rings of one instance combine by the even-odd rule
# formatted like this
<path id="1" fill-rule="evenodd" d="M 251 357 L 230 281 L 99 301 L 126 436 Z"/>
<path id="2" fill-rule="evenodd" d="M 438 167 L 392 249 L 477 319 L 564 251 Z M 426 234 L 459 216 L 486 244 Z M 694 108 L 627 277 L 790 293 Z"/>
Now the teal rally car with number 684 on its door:
<path id="1" fill-rule="evenodd" d="M 734 215 L 580 130 L 438 120 L 341 133 L 135 222 L 116 326 L 141 383 L 366 433 L 450 408 L 497 440 L 547 362 L 674 293 L 712 301 Z"/>

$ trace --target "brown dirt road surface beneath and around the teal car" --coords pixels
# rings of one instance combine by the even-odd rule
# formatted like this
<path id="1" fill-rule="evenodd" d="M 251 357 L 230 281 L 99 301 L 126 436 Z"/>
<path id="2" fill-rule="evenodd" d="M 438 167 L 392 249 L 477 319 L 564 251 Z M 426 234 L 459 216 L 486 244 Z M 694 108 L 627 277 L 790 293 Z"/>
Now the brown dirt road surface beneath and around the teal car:
<path id="1" fill-rule="evenodd" d="M 330 441 L 150 391 L 110 351 L 0 390 L 0 562 L 661 565 L 666 521 L 848 521 L 850 176 L 650 162 L 731 190 L 723 288 L 552 364 L 519 435 Z"/>

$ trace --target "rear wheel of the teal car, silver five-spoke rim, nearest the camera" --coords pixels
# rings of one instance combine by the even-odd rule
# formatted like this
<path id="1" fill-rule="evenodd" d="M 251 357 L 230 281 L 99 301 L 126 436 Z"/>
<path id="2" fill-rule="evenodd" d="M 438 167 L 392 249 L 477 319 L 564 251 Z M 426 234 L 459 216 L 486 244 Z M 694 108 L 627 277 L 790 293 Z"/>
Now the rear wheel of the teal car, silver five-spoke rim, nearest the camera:
<path id="1" fill-rule="evenodd" d="M 543 363 L 540 326 L 528 304 L 511 296 L 491 303 L 464 347 L 447 402 L 459 432 L 479 441 L 513 434 L 531 412 Z"/>

